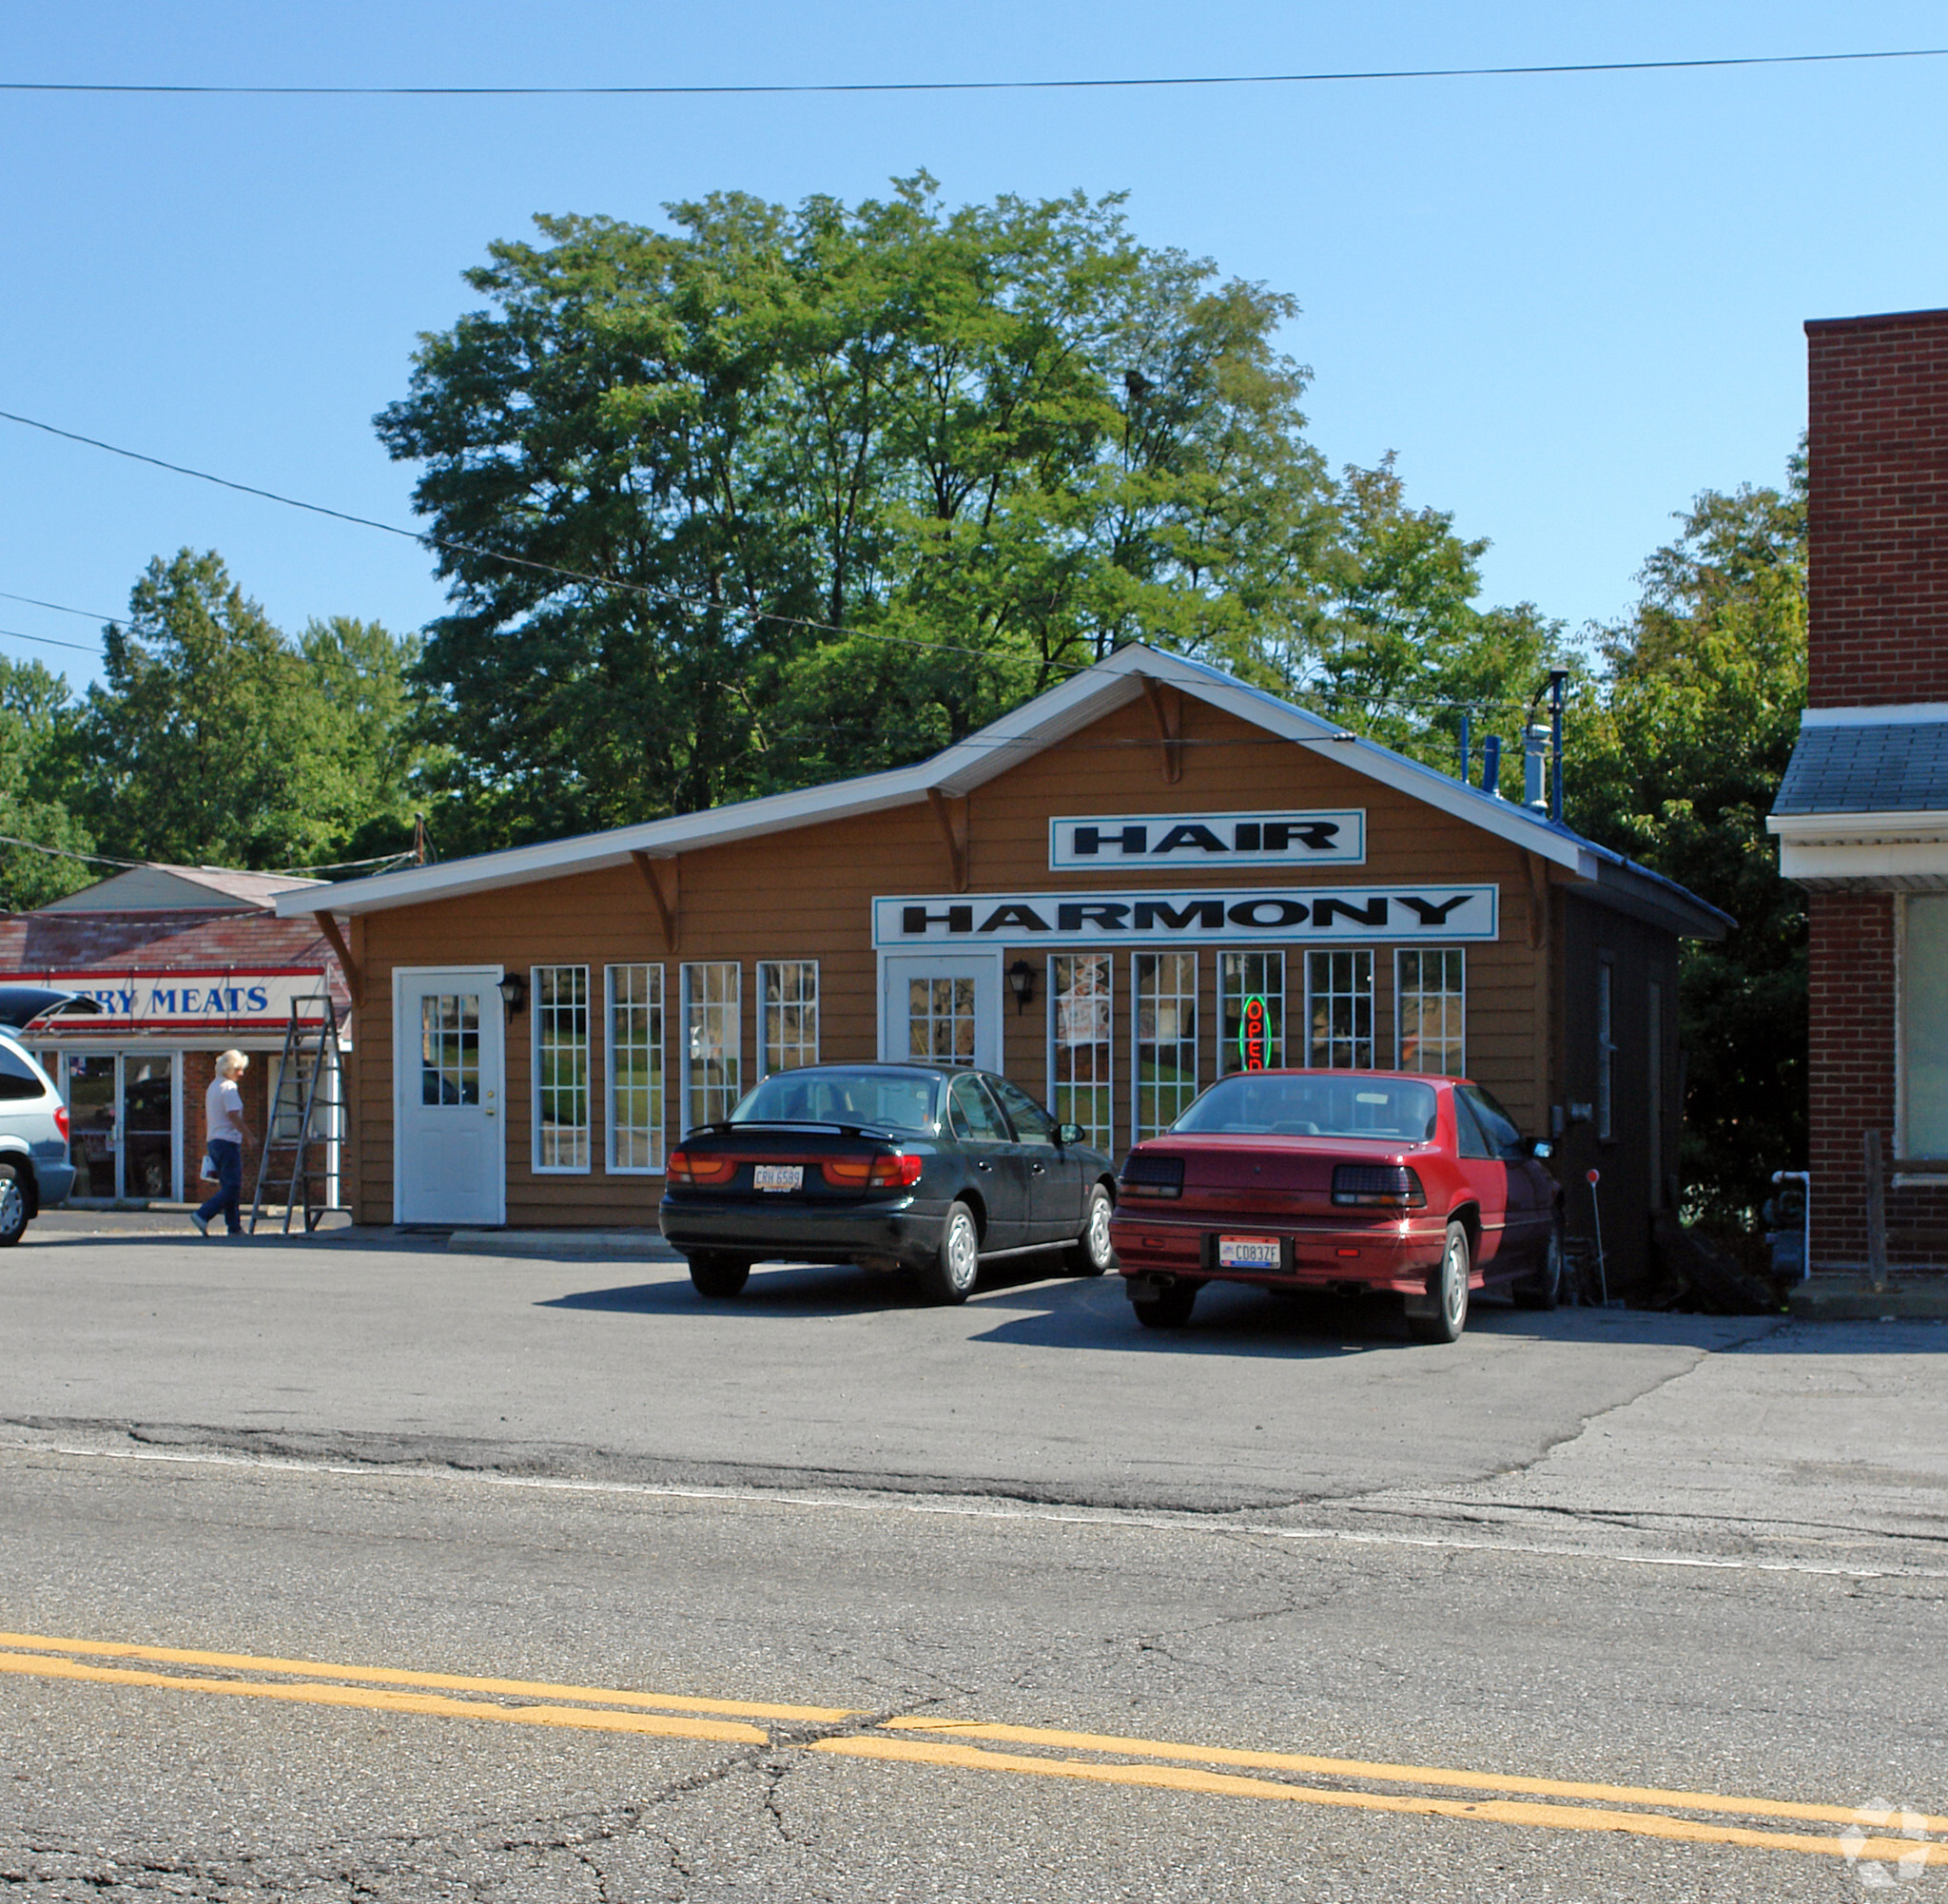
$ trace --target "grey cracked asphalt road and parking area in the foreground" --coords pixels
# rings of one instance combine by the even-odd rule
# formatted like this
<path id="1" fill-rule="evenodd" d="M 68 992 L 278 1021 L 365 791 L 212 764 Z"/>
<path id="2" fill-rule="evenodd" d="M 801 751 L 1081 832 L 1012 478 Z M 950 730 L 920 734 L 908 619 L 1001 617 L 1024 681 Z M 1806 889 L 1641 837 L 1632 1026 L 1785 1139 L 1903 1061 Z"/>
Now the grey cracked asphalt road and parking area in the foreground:
<path id="1" fill-rule="evenodd" d="M 1948 1838 L 1938 1326 L 58 1232 L 0 1302 L 23 1896 L 1837 1898 L 1925 1849 L 1856 1809 Z"/>

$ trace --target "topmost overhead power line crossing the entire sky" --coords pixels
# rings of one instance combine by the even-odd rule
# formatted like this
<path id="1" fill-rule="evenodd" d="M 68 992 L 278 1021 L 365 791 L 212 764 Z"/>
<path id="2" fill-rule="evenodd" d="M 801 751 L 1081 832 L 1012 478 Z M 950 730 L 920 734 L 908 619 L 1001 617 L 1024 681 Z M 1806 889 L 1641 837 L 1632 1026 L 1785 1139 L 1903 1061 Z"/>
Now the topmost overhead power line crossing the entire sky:
<path id="1" fill-rule="evenodd" d="M 1745 53 L 1697 60 L 1566 60 L 1531 66 L 1379 66 L 1319 72 L 1124 74 L 1073 80 L 801 80 L 729 86 L 218 86 L 105 80 L 0 80 L 10 93 L 138 93 L 257 99 L 715 99 L 791 93 L 1130 92 L 1194 86 L 1352 86 L 1389 80 L 1535 80 L 1597 72 L 1712 72 L 1736 66 L 1835 66 L 1858 60 L 1934 60 L 1948 47 L 1866 53 Z"/>

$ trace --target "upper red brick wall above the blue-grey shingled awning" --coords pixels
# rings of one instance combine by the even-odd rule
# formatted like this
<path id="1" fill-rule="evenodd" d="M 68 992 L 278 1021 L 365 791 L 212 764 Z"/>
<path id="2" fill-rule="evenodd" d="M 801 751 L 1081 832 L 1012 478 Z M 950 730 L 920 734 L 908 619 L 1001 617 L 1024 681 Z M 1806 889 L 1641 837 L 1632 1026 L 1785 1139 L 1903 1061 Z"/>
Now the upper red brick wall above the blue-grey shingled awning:
<path id="1" fill-rule="evenodd" d="M 1810 705 L 1948 701 L 1948 311 L 1806 337 Z"/>

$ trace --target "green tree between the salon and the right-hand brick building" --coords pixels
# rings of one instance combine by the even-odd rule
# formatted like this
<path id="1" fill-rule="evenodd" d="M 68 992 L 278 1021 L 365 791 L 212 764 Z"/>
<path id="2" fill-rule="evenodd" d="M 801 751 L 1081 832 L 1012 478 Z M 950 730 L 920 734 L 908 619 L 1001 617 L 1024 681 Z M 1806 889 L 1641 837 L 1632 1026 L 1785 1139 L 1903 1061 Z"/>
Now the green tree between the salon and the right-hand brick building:
<path id="1" fill-rule="evenodd" d="M 1603 633 L 1580 703 L 1568 818 L 1732 915 L 1685 948 L 1685 1184 L 1749 1227 L 1773 1170 L 1806 1156 L 1806 897 L 1765 816 L 1806 705 L 1806 461 L 1784 489 L 1704 493 Z"/>

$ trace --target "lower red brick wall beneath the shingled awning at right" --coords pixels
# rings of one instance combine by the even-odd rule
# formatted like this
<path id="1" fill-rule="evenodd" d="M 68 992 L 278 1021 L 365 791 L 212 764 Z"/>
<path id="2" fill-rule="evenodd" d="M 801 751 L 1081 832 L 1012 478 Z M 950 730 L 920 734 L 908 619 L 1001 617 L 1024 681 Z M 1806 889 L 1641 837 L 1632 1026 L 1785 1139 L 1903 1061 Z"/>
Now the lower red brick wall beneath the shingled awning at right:
<path id="1" fill-rule="evenodd" d="M 1895 1125 L 1895 909 L 1892 892 L 1808 896 L 1812 954 L 1814 1267 L 1864 1269 L 1866 1149 L 1880 1131 L 1882 1158 L 1899 1147 Z M 1888 1262 L 1901 1269 L 1948 1262 L 1948 1188 L 1892 1188 Z"/>

